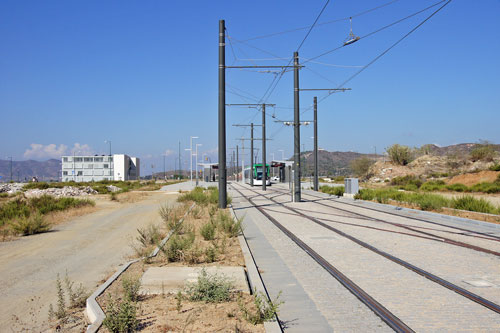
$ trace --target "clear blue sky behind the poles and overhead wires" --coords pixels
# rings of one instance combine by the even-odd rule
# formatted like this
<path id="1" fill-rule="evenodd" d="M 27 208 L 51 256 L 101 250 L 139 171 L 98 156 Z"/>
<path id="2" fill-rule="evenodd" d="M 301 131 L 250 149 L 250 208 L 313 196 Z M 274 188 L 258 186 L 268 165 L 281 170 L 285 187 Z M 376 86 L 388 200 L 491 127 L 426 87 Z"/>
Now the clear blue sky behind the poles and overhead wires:
<path id="1" fill-rule="evenodd" d="M 331 0 L 299 50 L 301 62 L 341 46 L 349 16 L 353 32 L 365 36 L 437 2 Z M 325 3 L 3 0 L 0 159 L 103 154 L 111 140 L 113 153 L 140 157 L 150 173 L 151 164 L 163 169 L 163 154 L 173 168 L 179 141 L 185 168 L 184 149 L 198 136 L 199 155 L 208 152 L 213 161 L 219 19 L 230 36 L 227 65 L 286 65 L 308 31 L 295 29 L 312 25 Z M 341 86 L 444 3 L 306 62 L 301 88 Z M 320 147 L 380 153 L 393 143 L 500 142 L 499 13 L 499 0 L 451 1 L 349 81 L 351 91 L 321 101 Z M 263 102 L 276 75 L 228 69 L 227 103 Z M 301 93 L 304 120 L 312 119 L 315 94 L 325 96 Z M 273 120 L 293 119 L 293 73 L 264 101 L 277 106 L 267 110 L 268 158 L 281 157 L 280 149 L 290 157 L 293 130 Z M 261 122 L 258 110 L 227 109 L 228 146 L 249 137 L 231 125 L 250 121 Z M 312 149 L 313 127 L 301 133 L 305 149 Z"/>

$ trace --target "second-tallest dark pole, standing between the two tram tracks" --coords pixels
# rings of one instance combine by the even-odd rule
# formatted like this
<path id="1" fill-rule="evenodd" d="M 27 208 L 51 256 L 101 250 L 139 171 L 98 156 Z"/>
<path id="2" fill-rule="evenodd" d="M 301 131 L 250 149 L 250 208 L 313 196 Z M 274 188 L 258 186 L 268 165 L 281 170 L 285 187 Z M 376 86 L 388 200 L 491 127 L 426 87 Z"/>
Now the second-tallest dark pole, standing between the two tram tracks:
<path id="1" fill-rule="evenodd" d="M 293 201 L 300 202 L 300 110 L 299 110 L 299 53 L 293 53 L 293 126 L 294 126 L 294 154 L 293 154 Z"/>

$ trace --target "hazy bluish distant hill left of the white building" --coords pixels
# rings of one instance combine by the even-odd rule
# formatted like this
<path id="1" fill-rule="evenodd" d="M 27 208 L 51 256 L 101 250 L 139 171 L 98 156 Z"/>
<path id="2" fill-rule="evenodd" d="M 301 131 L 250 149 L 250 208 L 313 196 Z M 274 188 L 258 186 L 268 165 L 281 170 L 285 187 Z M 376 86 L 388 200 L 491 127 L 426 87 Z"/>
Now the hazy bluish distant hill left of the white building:
<path id="1" fill-rule="evenodd" d="M 12 161 L 12 179 L 14 181 L 31 180 L 36 176 L 40 181 L 58 180 L 61 174 L 61 160 L 47 161 Z M 10 181 L 10 160 L 0 160 L 0 182 Z"/>

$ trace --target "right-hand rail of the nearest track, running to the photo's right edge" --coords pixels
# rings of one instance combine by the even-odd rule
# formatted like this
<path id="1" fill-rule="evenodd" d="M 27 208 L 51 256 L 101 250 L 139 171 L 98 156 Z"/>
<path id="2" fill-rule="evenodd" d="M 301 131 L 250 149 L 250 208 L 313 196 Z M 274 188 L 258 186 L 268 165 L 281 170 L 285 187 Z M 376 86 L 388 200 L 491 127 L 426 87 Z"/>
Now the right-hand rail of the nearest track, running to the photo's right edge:
<path id="1" fill-rule="evenodd" d="M 242 185 L 240 185 L 240 186 L 242 186 Z M 250 189 L 250 191 L 254 192 L 255 194 L 260 194 L 261 196 L 263 196 L 264 198 L 266 198 L 265 195 L 263 195 L 261 193 L 258 193 L 258 192 L 254 191 L 252 189 Z M 240 191 L 238 191 L 238 192 L 241 195 L 243 195 Z M 268 200 L 270 200 L 270 201 L 274 202 L 275 204 L 278 204 L 278 205 L 280 205 L 280 206 L 282 206 L 282 207 L 284 207 L 284 208 L 286 208 L 286 209 L 288 209 L 288 210 L 290 210 L 290 211 L 292 211 L 292 212 L 294 212 L 294 213 L 296 213 L 296 214 L 298 214 L 298 215 L 300 215 L 300 216 L 302 216 L 302 217 L 304 217 L 304 218 L 306 218 L 306 219 L 308 219 L 308 220 L 310 220 L 310 221 L 312 221 L 312 222 L 314 222 L 314 223 L 316 223 L 316 224 L 318 224 L 318 225 L 320 225 L 320 226 L 322 226 L 322 227 L 324 227 L 324 228 L 326 228 L 326 229 L 328 229 L 330 231 L 333 231 L 336 234 L 338 234 L 338 235 L 340 235 L 342 237 L 345 237 L 345 238 L 353 241 L 354 243 L 356 243 L 356 244 L 358 244 L 358 245 L 360 245 L 360 246 L 362 246 L 362 247 L 364 247 L 364 248 L 366 248 L 366 249 L 368 249 L 368 250 L 370 250 L 370 251 L 372 251 L 372 252 L 374 252 L 374 253 L 376 253 L 376 254 L 378 254 L 378 255 L 380 255 L 380 256 L 388 259 L 388 260 L 390 260 L 390 261 L 392 261 L 392 262 L 395 262 L 395 263 L 397 263 L 397 264 L 399 264 L 399 265 L 401 265 L 401 266 L 403 266 L 403 267 L 405 267 L 405 268 L 407 268 L 407 269 L 409 269 L 409 270 L 411 270 L 411 271 L 413 271 L 413 272 L 415 272 L 415 273 L 417 273 L 417 274 L 419 274 L 419 275 L 421 275 L 421 276 L 429 279 L 430 281 L 433 281 L 433 282 L 435 282 L 435 283 L 437 283 L 437 284 L 439 284 L 439 285 L 441 285 L 441 286 L 443 286 L 443 287 L 445 287 L 447 289 L 450 289 L 450 290 L 456 292 L 457 294 L 462 295 L 463 297 L 465 297 L 465 298 L 467 298 L 467 299 L 469 299 L 469 300 L 471 300 L 473 302 L 476 302 L 477 304 L 480 304 L 480 305 L 482 305 L 482 306 L 490 309 L 493 312 L 500 313 L 500 305 L 498 305 L 496 303 L 493 303 L 493 302 L 491 302 L 491 301 L 489 301 L 489 300 L 487 300 L 487 299 L 485 299 L 485 298 L 483 298 L 483 297 L 481 297 L 479 295 L 476 295 L 476 294 L 474 294 L 474 293 L 472 293 L 472 292 L 470 292 L 470 291 L 468 291 L 468 290 L 466 290 L 464 288 L 461 288 L 461 287 L 459 287 L 459 286 L 457 286 L 457 285 L 455 285 L 455 284 L 453 284 L 453 283 L 451 283 L 449 281 L 446 281 L 445 279 L 440 278 L 437 275 L 434 275 L 434 274 L 432 274 L 430 272 L 427 272 L 427 271 L 425 271 L 425 270 L 423 270 L 423 269 L 421 269 L 421 268 L 419 268 L 419 267 L 417 267 L 415 265 L 412 265 L 409 262 L 406 262 L 406 261 L 404 261 L 404 260 L 402 260 L 402 259 L 400 259 L 398 257 L 395 257 L 395 256 L 393 256 L 393 255 L 391 255 L 391 254 L 389 254 L 387 252 L 379 250 L 376 247 L 374 247 L 374 246 L 372 246 L 372 245 L 370 245 L 370 244 L 368 244 L 366 242 L 363 242 L 362 240 L 360 240 L 360 239 L 358 239 L 358 238 L 356 238 L 354 236 L 351 236 L 351 235 L 349 235 L 349 234 L 347 234 L 347 233 L 345 233 L 345 232 L 343 232 L 343 231 L 341 231 L 339 229 L 336 229 L 336 228 L 334 228 L 332 226 L 329 226 L 329 225 L 327 225 L 327 224 L 319 221 L 318 219 L 316 219 L 314 217 L 305 215 L 305 214 L 301 213 L 300 211 L 298 211 L 298 210 L 296 210 L 296 209 L 294 209 L 292 207 L 285 206 L 284 204 L 282 204 L 282 203 L 280 203 L 280 202 L 278 202 L 278 201 L 276 201 L 274 199 L 268 199 Z M 332 207 L 332 208 L 334 208 L 334 207 Z M 264 208 L 262 208 L 262 210 L 263 209 Z M 259 211 L 261 211 L 261 209 L 259 209 Z"/>

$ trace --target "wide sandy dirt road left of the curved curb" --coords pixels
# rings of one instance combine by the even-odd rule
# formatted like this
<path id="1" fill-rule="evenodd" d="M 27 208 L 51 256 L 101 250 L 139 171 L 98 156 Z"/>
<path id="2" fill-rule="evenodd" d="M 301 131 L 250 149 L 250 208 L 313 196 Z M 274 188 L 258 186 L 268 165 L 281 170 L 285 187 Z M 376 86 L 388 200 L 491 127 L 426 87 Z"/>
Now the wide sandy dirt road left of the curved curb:
<path id="1" fill-rule="evenodd" d="M 174 204 L 175 199 L 164 192 L 152 192 L 135 203 L 97 196 L 92 214 L 72 218 L 48 233 L 0 243 L 0 330 L 48 329 L 57 274 L 67 271 L 76 284 L 93 290 L 133 254 L 130 244 L 136 229 L 157 223 L 159 206 Z"/>

